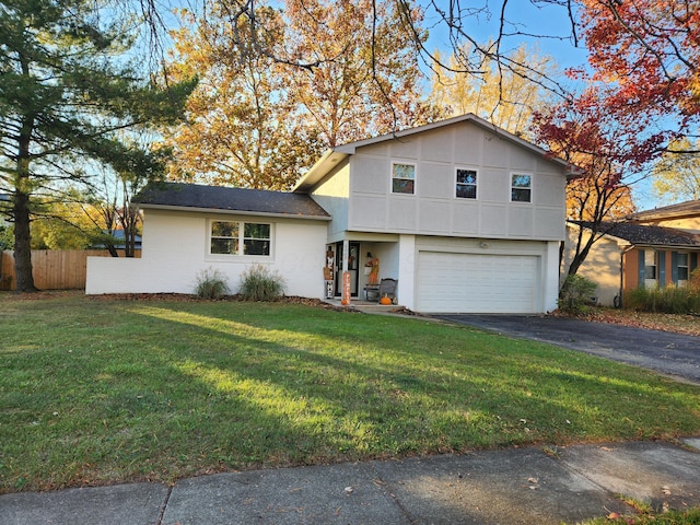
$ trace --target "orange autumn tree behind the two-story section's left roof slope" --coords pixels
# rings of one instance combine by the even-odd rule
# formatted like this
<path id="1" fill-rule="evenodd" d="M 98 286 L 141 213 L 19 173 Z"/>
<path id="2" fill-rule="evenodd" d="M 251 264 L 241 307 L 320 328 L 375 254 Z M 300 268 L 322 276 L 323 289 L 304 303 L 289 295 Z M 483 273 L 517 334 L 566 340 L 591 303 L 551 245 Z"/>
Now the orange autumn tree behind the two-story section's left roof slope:
<path id="1" fill-rule="evenodd" d="M 420 11 L 393 0 L 287 0 L 290 97 L 325 147 L 424 124 L 413 37 Z M 416 33 L 413 33 L 416 32 Z"/>

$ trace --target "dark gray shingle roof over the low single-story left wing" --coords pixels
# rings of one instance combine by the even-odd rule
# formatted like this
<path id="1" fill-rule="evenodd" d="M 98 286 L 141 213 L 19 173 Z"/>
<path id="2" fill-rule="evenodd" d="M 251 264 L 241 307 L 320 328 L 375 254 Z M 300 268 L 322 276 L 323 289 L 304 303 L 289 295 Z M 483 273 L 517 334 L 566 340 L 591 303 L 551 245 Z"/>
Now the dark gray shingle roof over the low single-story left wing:
<path id="1" fill-rule="evenodd" d="M 329 220 L 308 195 L 265 189 L 229 188 L 183 183 L 153 183 L 132 202 L 141 208 L 187 208 L 199 211 L 245 212 L 260 215 Z"/>

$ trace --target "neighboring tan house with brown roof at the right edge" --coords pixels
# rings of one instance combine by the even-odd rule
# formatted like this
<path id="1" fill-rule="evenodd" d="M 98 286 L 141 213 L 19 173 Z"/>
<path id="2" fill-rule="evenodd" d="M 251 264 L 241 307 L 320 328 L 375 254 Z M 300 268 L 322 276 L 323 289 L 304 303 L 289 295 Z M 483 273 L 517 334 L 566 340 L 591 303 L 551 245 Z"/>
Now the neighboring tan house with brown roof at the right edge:
<path id="1" fill-rule="evenodd" d="M 586 225 L 583 223 L 588 235 Z M 570 223 L 564 271 L 571 262 L 578 232 L 578 223 Z M 639 287 L 685 287 L 698 267 L 700 201 L 634 213 L 627 222 L 604 223 L 602 232 L 604 235 L 579 269 L 579 275 L 598 285 L 600 304 L 619 305 L 626 291 Z"/>

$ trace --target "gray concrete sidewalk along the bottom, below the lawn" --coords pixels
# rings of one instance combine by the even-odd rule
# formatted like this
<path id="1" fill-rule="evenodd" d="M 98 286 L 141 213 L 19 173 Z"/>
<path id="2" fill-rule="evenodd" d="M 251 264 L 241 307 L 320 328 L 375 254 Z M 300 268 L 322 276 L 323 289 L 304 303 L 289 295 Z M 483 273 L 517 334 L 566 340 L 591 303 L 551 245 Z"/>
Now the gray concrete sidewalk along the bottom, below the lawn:
<path id="1" fill-rule="evenodd" d="M 575 524 L 700 506 L 700 438 L 475 452 L 0 495 L 0 523 Z"/>

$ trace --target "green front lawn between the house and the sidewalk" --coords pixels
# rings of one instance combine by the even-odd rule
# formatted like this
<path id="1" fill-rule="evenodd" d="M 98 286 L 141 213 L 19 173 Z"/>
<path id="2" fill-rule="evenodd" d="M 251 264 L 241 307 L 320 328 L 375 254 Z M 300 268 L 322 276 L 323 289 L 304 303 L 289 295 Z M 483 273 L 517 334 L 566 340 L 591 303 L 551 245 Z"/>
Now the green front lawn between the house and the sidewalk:
<path id="1" fill-rule="evenodd" d="M 303 304 L 0 298 L 0 492 L 700 435 L 700 387 Z"/>

